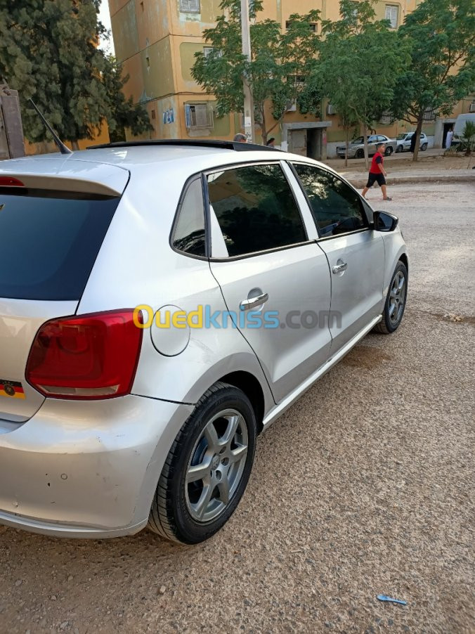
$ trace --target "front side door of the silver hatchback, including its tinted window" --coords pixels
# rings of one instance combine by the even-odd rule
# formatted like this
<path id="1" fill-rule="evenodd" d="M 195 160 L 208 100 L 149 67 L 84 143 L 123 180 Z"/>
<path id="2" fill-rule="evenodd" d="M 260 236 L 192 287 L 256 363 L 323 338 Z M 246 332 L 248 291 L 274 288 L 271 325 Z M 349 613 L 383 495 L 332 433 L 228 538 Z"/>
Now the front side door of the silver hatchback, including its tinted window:
<path id="1" fill-rule="evenodd" d="M 360 195 L 336 174 L 294 163 L 332 271 L 333 356 L 383 309 L 384 242 L 373 231 Z M 369 209 L 369 208 L 368 208 Z"/>

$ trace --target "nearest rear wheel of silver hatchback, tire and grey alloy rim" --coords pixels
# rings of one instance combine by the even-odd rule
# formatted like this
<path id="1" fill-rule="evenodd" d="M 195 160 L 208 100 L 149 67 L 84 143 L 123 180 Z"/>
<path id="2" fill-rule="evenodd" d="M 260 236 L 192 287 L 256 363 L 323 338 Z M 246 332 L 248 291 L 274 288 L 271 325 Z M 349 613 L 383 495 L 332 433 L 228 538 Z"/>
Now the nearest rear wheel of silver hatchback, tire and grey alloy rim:
<path id="1" fill-rule="evenodd" d="M 165 461 L 148 527 L 196 544 L 226 524 L 251 474 L 256 417 L 240 389 L 218 382 L 197 403 Z"/>

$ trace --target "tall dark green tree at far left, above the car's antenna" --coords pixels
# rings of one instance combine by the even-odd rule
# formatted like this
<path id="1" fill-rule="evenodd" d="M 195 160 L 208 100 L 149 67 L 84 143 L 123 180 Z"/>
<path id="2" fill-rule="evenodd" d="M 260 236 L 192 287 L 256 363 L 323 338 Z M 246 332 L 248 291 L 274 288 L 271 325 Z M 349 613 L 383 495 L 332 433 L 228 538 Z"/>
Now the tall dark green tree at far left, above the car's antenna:
<path id="1" fill-rule="evenodd" d="M 100 0 L 0 0 L 0 75 L 20 93 L 25 136 L 48 133 L 32 98 L 58 135 L 77 148 L 111 115 L 108 70 L 98 38 Z M 113 115 L 112 119 L 115 121 Z"/>

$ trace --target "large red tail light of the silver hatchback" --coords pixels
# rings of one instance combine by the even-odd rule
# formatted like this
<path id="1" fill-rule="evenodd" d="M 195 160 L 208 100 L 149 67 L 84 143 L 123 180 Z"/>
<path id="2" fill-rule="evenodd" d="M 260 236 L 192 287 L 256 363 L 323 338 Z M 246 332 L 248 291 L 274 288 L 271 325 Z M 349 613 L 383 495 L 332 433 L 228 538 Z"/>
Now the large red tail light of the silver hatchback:
<path id="1" fill-rule="evenodd" d="M 56 399 L 129 394 L 143 332 L 133 315 L 122 310 L 47 321 L 34 338 L 27 381 Z"/>

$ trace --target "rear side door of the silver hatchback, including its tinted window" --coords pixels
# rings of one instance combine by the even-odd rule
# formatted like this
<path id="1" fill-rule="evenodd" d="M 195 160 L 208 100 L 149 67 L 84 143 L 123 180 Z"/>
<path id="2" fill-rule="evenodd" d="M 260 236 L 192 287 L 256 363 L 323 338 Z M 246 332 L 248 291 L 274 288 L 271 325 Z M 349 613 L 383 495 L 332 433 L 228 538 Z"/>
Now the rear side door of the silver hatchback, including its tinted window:
<path id="1" fill-rule="evenodd" d="M 211 271 L 277 403 L 327 361 L 331 346 L 330 269 L 285 170 L 272 162 L 206 175 Z"/>

